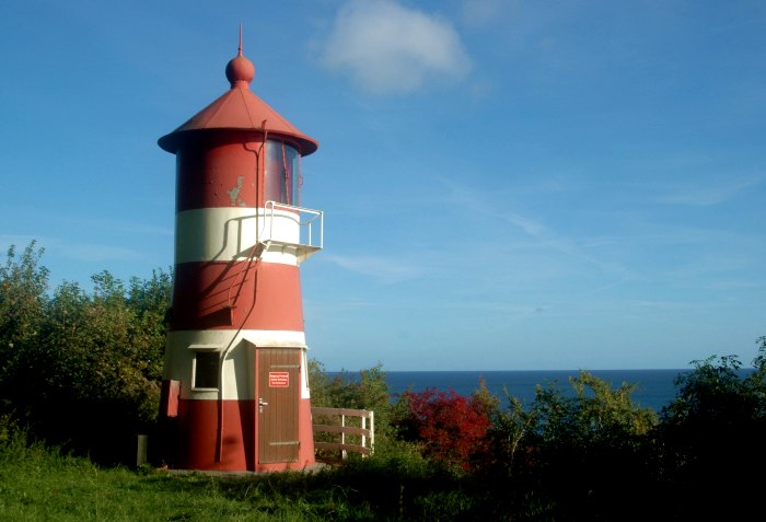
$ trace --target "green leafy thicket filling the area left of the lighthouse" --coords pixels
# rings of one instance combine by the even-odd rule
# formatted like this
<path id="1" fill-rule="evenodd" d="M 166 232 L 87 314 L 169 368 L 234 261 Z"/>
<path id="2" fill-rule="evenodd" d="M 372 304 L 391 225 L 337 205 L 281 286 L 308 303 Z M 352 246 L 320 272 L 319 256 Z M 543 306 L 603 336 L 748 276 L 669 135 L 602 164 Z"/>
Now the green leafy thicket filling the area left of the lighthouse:
<path id="1" fill-rule="evenodd" d="M 103 462 L 135 456 L 156 417 L 171 277 L 129 288 L 108 271 L 89 294 L 65 281 L 47 294 L 42 250 L 0 268 L 0 397 L 30 436 Z"/>

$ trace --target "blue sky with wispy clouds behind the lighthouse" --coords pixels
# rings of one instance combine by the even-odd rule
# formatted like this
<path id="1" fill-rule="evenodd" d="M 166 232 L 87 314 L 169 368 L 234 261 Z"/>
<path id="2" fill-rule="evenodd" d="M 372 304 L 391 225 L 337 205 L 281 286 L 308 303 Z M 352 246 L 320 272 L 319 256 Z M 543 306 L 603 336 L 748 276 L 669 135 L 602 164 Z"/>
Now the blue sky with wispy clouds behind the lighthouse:
<path id="1" fill-rule="evenodd" d="M 303 205 L 328 370 L 750 363 L 766 335 L 761 1 L 18 1 L 0 248 L 51 285 L 173 265 L 156 140 L 229 89 L 320 149 Z"/>

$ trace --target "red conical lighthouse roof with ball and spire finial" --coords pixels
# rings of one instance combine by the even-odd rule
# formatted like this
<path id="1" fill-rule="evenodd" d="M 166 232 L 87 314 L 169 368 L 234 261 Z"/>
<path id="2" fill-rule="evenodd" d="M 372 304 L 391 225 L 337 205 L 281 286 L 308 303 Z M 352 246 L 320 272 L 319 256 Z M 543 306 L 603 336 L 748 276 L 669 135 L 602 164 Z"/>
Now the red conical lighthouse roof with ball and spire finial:
<path id="1" fill-rule="evenodd" d="M 300 144 L 301 155 L 309 155 L 318 148 L 316 140 L 298 130 L 266 102 L 253 94 L 249 83 L 255 78 L 253 62 L 240 51 L 227 65 L 229 92 L 192 116 L 184 125 L 158 140 L 160 147 L 175 153 L 187 132 L 209 129 L 245 129 L 266 131 L 282 138 L 292 138 Z"/>

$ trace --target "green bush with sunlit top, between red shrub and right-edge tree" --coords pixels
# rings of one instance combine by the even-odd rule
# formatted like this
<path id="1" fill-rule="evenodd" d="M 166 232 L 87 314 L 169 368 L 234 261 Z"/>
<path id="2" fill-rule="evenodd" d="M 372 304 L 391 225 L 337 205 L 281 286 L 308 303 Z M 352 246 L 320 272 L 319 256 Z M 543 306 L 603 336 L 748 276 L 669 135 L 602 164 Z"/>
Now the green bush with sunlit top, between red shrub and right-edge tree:
<path id="1" fill-rule="evenodd" d="M 527 406 L 507 394 L 509 406 L 494 414 L 489 432 L 495 461 L 483 472 L 547 499 L 555 520 L 646 515 L 657 506 L 630 499 L 653 494 L 645 462 L 657 414 L 632 403 L 635 384 L 612 388 L 585 371 L 569 384 L 570 393 L 555 382 L 538 385 Z"/>

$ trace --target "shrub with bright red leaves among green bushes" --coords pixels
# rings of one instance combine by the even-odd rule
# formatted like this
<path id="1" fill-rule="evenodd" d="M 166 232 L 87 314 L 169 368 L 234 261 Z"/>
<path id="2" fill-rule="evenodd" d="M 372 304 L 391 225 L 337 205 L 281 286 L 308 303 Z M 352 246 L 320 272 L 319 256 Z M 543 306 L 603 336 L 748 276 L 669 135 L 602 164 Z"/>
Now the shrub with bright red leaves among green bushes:
<path id="1" fill-rule="evenodd" d="M 409 405 L 404 434 L 421 441 L 427 456 L 473 469 L 477 457 L 488 451 L 490 421 L 479 396 L 426 388 L 421 393 L 406 392 L 404 398 Z"/>

